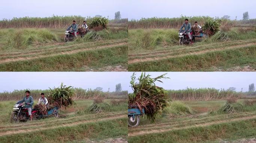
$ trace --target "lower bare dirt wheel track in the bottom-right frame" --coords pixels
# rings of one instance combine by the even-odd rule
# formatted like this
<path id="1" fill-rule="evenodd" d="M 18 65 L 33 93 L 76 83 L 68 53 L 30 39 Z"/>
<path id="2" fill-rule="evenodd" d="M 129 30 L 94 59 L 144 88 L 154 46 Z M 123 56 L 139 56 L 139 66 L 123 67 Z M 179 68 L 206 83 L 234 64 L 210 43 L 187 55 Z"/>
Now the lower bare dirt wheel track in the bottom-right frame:
<path id="1" fill-rule="evenodd" d="M 250 120 L 250 119 L 254 119 L 254 118 L 256 118 L 256 115 L 250 116 L 250 117 L 243 117 L 243 118 L 233 118 L 233 119 L 223 120 L 223 121 L 214 121 L 214 122 L 209 122 L 209 123 L 204 123 L 204 124 L 189 125 L 189 126 L 185 126 L 185 127 L 174 127 L 174 128 L 169 128 L 169 129 L 138 131 L 138 132 L 128 133 L 128 137 L 140 136 L 143 134 L 162 133 L 162 132 L 166 132 L 166 131 L 184 130 L 184 129 L 193 128 L 193 127 L 205 127 L 205 126 L 214 125 L 214 124 L 229 123 L 229 122 L 241 121 L 241 120 Z"/>

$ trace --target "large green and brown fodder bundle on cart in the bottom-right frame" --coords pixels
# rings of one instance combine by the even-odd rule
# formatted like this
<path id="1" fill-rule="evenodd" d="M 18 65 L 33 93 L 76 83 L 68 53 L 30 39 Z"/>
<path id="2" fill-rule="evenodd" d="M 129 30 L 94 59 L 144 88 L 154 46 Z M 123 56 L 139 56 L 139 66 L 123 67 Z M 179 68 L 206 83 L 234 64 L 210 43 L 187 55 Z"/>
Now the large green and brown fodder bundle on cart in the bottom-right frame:
<path id="1" fill-rule="evenodd" d="M 134 91 L 132 94 L 129 94 L 129 106 L 138 106 L 142 111 L 142 108 L 145 109 L 145 114 L 147 118 L 151 121 L 155 121 L 156 114 L 161 112 L 168 105 L 167 91 L 161 87 L 155 85 L 156 81 L 162 82 L 159 79 L 168 78 L 165 77 L 165 74 L 150 78 L 150 75 L 141 73 L 141 76 L 138 78 L 138 83 L 135 83 L 135 75 L 132 74 L 131 77 L 131 87 Z"/>

